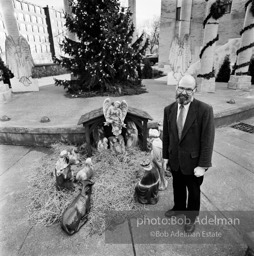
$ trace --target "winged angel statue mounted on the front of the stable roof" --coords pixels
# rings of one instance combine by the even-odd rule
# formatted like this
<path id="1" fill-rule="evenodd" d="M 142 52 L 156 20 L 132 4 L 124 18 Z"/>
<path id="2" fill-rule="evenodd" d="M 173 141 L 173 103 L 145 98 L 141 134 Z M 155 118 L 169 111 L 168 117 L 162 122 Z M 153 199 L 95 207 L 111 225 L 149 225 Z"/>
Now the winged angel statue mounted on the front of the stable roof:
<path id="1" fill-rule="evenodd" d="M 111 102 L 110 98 L 107 98 L 103 102 L 103 114 L 106 119 L 104 125 L 112 126 L 112 133 L 118 136 L 122 133 L 122 127 L 125 127 L 124 119 L 128 112 L 128 104 L 125 100 L 122 102 Z"/>

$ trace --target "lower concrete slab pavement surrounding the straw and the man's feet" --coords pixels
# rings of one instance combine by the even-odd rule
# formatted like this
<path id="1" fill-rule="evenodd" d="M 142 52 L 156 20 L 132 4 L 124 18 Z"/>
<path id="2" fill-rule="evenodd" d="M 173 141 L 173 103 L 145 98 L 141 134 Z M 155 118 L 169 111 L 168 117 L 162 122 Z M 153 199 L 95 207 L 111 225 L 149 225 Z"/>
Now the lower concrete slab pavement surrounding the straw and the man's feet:
<path id="1" fill-rule="evenodd" d="M 254 118 L 244 122 L 254 125 Z M 140 244 L 140 237 L 147 234 L 139 233 L 132 220 L 131 228 L 125 222 L 112 231 L 126 234 L 126 244 L 106 244 L 105 234 L 89 237 L 85 228 L 69 237 L 58 224 L 48 228 L 31 226 L 26 211 L 27 176 L 45 154 L 50 154 L 50 149 L 0 145 L 0 255 L 244 255 L 243 234 L 254 228 L 253 152 L 253 134 L 231 127 L 216 129 L 213 167 L 201 187 L 201 210 L 241 219 L 239 225 L 220 225 L 223 240 L 213 244 L 181 244 L 178 240 L 172 244 L 169 239 L 153 238 L 152 243 Z M 149 209 L 163 214 L 173 204 L 171 182 L 160 193 L 159 203 Z M 158 228 L 165 231 L 164 227 Z M 182 228 L 178 225 L 166 231 Z M 199 225 L 197 230 L 205 231 L 206 227 Z"/>

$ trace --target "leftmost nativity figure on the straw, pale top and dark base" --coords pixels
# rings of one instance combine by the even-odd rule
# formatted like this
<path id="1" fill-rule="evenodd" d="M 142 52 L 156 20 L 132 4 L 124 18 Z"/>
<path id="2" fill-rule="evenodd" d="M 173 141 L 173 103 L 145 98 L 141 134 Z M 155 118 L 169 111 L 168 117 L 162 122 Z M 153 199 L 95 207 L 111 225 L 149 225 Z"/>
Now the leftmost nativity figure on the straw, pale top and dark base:
<path id="1" fill-rule="evenodd" d="M 56 188 L 61 189 L 74 189 L 73 185 L 73 171 L 71 165 L 80 163 L 75 149 L 63 150 L 55 165 L 53 175 L 56 177 Z"/>

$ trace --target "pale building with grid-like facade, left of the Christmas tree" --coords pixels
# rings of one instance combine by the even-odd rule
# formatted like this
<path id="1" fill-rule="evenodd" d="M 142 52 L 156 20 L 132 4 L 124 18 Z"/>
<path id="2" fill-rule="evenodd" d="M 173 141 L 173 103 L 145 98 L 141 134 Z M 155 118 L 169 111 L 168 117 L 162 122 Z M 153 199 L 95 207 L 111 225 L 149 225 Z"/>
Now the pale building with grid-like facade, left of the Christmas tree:
<path id="1" fill-rule="evenodd" d="M 52 63 L 59 56 L 59 43 L 65 35 L 62 11 L 29 2 L 12 0 L 19 33 L 28 41 L 35 64 Z M 5 60 L 6 29 L 0 11 L 0 54 Z"/>

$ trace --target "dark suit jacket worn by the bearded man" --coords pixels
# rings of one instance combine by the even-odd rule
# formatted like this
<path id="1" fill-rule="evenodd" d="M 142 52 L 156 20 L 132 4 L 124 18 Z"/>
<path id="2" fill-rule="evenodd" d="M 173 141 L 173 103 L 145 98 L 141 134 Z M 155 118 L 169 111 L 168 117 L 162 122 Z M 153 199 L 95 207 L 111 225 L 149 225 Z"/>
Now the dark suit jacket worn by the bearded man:
<path id="1" fill-rule="evenodd" d="M 214 144 L 213 108 L 193 99 L 179 140 L 176 117 L 177 102 L 165 107 L 163 120 L 163 158 L 169 159 L 169 167 L 183 174 L 194 174 L 194 168 L 212 166 Z"/>

